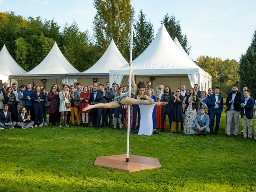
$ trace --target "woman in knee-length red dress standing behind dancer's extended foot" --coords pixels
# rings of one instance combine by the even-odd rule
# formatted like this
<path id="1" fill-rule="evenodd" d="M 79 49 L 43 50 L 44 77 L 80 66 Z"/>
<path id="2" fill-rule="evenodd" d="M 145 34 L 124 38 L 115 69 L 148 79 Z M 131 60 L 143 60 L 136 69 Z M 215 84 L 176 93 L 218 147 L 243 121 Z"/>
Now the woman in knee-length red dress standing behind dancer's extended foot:
<path id="1" fill-rule="evenodd" d="M 89 104 L 90 93 L 87 92 L 86 86 L 84 86 L 83 91 L 84 92 L 82 92 L 79 97 L 79 100 L 80 100 L 79 112 L 82 113 L 83 127 L 89 127 L 88 120 L 89 120 L 90 110 L 83 111 L 82 109 L 85 108 Z M 85 117 L 86 117 L 86 124 L 85 124 Z"/>

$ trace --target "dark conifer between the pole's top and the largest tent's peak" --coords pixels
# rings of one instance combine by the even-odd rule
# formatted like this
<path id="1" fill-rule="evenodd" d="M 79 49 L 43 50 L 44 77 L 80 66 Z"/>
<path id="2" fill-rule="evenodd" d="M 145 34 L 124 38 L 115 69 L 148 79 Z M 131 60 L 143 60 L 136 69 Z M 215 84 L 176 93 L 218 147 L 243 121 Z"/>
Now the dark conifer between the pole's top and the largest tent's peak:
<path id="1" fill-rule="evenodd" d="M 152 42 L 154 38 L 154 29 L 150 21 L 146 20 L 146 15 L 142 10 L 139 13 L 139 20 L 134 25 L 134 37 L 133 37 L 133 58 L 138 57 Z"/>

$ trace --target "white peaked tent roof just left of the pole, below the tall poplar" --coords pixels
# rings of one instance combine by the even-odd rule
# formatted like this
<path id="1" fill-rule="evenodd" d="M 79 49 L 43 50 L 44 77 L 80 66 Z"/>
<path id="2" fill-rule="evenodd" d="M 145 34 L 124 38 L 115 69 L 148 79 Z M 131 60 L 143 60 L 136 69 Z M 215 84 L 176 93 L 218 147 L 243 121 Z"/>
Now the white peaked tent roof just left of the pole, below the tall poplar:
<path id="1" fill-rule="evenodd" d="M 109 73 L 109 69 L 120 68 L 127 63 L 112 39 L 102 57 L 92 67 L 82 72 L 82 74 Z"/>

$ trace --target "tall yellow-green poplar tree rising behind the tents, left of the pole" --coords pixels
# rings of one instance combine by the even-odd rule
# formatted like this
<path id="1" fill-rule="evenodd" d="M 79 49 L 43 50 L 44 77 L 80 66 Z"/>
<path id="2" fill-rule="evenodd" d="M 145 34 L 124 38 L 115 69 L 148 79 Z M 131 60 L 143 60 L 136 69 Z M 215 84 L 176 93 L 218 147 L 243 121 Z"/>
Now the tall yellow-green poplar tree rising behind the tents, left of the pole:
<path id="1" fill-rule="evenodd" d="M 130 23 L 134 17 L 134 9 L 130 0 L 94 0 L 96 16 L 93 20 L 93 31 L 96 44 L 106 50 L 113 38 L 118 49 L 124 54 L 128 46 Z"/>

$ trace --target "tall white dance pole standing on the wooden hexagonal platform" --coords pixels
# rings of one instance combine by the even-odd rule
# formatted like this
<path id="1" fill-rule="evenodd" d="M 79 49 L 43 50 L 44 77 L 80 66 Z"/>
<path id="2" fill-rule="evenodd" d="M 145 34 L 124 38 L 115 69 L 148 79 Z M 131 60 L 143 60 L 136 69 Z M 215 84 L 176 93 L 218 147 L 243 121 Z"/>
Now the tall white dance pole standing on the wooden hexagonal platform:
<path id="1" fill-rule="evenodd" d="M 130 42 L 130 62 L 132 62 L 132 44 L 133 44 L 133 24 L 131 22 L 131 42 Z M 131 85 L 132 85 L 132 66 L 129 67 L 129 97 L 131 97 Z M 126 162 L 129 160 L 129 140 L 130 140 L 130 114 L 131 114 L 131 105 L 128 105 L 128 121 L 127 121 L 127 147 L 126 147 Z"/>

